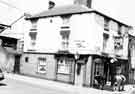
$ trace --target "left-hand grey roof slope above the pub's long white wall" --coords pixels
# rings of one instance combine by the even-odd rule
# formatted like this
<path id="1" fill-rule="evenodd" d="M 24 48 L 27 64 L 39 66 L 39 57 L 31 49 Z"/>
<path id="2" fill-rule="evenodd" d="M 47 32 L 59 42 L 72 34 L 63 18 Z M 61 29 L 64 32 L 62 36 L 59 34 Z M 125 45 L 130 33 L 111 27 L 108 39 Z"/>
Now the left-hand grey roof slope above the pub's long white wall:
<path id="1" fill-rule="evenodd" d="M 54 7 L 53 9 L 43 11 L 39 14 L 33 15 L 26 19 L 44 18 L 44 17 L 59 16 L 59 15 L 65 15 L 65 14 L 78 14 L 78 13 L 90 12 L 92 10 L 93 9 L 89 9 L 85 6 L 67 5 L 67 6 Z"/>

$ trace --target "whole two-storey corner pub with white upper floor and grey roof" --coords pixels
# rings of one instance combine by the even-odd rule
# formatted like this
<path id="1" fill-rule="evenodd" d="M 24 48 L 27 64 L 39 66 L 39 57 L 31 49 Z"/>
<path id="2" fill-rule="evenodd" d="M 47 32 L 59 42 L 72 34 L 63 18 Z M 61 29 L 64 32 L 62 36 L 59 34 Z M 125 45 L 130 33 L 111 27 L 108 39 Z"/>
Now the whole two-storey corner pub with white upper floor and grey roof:
<path id="1" fill-rule="evenodd" d="M 100 73 L 128 79 L 128 25 L 83 5 L 54 7 L 26 18 L 20 72 L 78 86 Z M 117 62 L 114 62 L 117 61 Z"/>

